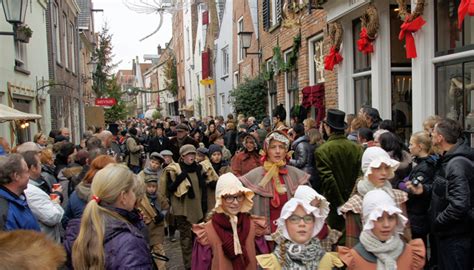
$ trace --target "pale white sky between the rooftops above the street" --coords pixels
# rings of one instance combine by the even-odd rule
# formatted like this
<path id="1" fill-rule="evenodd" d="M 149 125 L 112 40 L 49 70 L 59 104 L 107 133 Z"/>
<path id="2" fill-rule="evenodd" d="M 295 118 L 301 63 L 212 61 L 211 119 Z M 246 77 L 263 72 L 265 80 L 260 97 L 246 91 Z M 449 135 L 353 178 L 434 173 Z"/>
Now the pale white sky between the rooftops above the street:
<path id="1" fill-rule="evenodd" d="M 158 44 L 162 48 L 171 39 L 171 15 L 163 16 L 164 22 L 160 30 L 153 36 L 140 41 L 141 38 L 155 31 L 159 23 L 158 14 L 139 14 L 128 9 L 123 0 L 94 0 L 95 31 L 99 32 L 107 23 L 112 37 L 114 63 L 117 69 L 131 69 L 132 59 L 139 57 L 143 62 L 144 54 L 157 54 Z M 151 0 L 148 0 L 151 1 Z M 153 1 L 151 1 L 153 2 Z"/>

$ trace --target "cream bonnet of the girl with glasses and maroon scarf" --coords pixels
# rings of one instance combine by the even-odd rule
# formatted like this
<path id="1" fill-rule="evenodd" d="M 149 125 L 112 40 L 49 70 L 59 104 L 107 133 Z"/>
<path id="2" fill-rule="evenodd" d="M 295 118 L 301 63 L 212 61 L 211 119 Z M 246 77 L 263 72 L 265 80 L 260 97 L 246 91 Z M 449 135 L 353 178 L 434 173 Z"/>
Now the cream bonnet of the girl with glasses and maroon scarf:
<path id="1" fill-rule="evenodd" d="M 223 213 L 224 209 L 222 208 L 222 196 L 224 195 L 234 195 L 239 192 L 245 194 L 245 200 L 240 209 L 241 213 L 248 213 L 252 210 L 253 207 L 253 196 L 255 195 L 252 190 L 244 187 L 239 178 L 233 173 L 225 173 L 219 177 L 216 184 L 216 206 L 214 207 L 217 213 Z"/>

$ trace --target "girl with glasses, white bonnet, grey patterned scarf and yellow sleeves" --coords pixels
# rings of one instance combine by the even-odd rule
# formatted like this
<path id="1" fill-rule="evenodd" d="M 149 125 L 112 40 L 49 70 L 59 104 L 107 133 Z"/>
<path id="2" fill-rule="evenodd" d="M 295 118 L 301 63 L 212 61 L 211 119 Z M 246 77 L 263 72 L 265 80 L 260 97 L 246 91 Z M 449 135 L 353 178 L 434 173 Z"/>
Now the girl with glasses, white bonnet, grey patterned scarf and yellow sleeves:
<path id="1" fill-rule="evenodd" d="M 276 221 L 276 248 L 271 254 L 257 256 L 259 265 L 271 270 L 329 270 L 342 267 L 343 264 L 337 256 L 326 252 L 316 237 L 324 226 L 326 216 L 319 208 L 304 200 L 289 200 Z"/>

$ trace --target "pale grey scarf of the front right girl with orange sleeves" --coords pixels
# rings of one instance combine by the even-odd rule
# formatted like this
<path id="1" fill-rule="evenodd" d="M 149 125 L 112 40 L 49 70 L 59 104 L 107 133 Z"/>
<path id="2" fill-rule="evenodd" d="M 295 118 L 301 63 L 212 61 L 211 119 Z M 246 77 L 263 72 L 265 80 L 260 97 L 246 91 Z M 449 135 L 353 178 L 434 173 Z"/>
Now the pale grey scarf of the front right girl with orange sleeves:
<path id="1" fill-rule="evenodd" d="M 397 269 L 397 259 L 404 249 L 400 235 L 395 234 L 388 241 L 381 242 L 372 232 L 362 231 L 359 240 L 368 252 L 377 257 L 377 270 Z"/>

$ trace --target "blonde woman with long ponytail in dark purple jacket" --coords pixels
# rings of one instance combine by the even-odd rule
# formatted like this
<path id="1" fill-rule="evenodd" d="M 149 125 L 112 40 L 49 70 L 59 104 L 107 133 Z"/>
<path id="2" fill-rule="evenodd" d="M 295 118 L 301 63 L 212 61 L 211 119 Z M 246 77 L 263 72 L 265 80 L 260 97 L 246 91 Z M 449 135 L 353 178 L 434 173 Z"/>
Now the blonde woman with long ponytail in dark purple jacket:
<path id="1" fill-rule="evenodd" d="M 120 164 L 109 164 L 94 176 L 92 200 L 68 250 L 74 269 L 153 269 L 135 210 L 136 186 L 133 173 Z"/>

